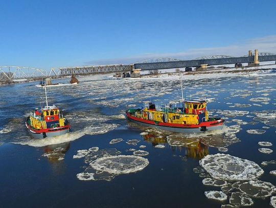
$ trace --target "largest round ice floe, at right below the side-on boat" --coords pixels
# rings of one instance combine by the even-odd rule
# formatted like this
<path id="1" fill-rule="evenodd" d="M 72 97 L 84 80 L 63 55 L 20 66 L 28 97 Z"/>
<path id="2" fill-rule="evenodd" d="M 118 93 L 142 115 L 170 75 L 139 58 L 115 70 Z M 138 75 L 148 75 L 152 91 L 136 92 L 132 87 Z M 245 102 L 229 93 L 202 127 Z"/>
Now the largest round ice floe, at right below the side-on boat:
<path id="1" fill-rule="evenodd" d="M 264 173 L 254 161 L 229 154 L 206 155 L 199 161 L 199 165 L 213 178 L 221 180 L 257 179 Z"/>

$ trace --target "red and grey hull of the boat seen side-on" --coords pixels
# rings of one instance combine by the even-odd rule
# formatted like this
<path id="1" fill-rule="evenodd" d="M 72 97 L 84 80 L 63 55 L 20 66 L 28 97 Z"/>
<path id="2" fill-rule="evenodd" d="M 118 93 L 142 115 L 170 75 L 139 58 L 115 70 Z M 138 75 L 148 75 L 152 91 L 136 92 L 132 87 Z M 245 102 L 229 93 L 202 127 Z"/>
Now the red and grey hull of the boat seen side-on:
<path id="1" fill-rule="evenodd" d="M 127 118 L 136 124 L 140 124 L 148 127 L 155 127 L 165 131 L 172 131 L 177 133 L 201 133 L 205 131 L 221 130 L 224 126 L 223 124 L 224 120 L 217 121 L 217 124 L 215 124 L 215 122 L 213 123 L 203 122 L 200 125 L 191 125 L 188 127 L 185 125 L 168 126 L 166 123 L 156 124 L 154 123 L 154 121 L 149 121 L 149 120 L 143 121 L 143 119 L 138 119 L 136 117 L 131 116 L 128 113 L 127 113 Z"/>

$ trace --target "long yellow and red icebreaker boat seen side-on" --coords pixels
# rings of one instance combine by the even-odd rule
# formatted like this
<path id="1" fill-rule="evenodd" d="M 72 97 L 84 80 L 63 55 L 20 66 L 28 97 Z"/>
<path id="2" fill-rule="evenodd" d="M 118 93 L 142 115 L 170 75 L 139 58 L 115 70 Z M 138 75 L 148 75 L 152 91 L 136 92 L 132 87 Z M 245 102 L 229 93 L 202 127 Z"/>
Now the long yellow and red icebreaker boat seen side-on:
<path id="1" fill-rule="evenodd" d="M 143 109 L 129 109 L 126 116 L 129 120 L 150 127 L 178 133 L 198 133 L 223 128 L 224 120 L 209 117 L 206 100 L 182 101 L 167 106 L 149 106 Z"/>

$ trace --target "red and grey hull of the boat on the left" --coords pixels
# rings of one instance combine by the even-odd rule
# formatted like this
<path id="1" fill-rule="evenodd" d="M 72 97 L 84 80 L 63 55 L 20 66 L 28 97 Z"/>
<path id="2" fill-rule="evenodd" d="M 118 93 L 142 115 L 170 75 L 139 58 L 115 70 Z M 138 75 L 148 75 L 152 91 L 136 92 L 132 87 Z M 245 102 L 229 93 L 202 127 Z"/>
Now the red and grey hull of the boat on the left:
<path id="1" fill-rule="evenodd" d="M 49 131 L 47 129 L 45 129 L 45 131 L 41 131 L 41 130 L 37 131 L 35 129 L 32 129 L 27 123 L 26 123 L 26 126 L 27 126 L 28 131 L 31 134 L 31 136 L 33 136 L 36 139 L 60 136 L 60 135 L 70 132 L 70 127 L 63 127 L 60 129 L 51 129 L 51 131 Z"/>

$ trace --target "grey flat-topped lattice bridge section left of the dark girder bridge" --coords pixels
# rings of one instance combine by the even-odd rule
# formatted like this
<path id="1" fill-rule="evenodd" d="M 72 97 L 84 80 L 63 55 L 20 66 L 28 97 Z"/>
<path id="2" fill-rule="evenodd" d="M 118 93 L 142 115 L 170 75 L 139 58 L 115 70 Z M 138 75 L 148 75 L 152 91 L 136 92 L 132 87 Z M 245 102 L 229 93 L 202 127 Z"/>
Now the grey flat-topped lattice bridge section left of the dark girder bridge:
<path id="1" fill-rule="evenodd" d="M 123 65 L 123 64 L 52 68 L 52 70 L 54 71 L 58 70 L 60 76 L 130 72 L 132 69 L 133 69 L 133 65 Z"/>

